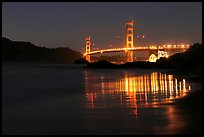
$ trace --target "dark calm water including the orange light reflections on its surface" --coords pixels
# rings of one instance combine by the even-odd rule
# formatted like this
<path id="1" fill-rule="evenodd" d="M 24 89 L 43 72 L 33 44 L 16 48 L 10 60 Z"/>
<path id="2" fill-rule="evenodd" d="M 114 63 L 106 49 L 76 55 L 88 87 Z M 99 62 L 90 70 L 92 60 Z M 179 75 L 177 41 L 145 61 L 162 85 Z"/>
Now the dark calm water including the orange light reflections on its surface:
<path id="1" fill-rule="evenodd" d="M 174 102 L 199 83 L 163 70 L 2 66 L 3 134 L 183 134 L 195 123 Z M 191 126 L 189 126 L 191 125 Z"/>

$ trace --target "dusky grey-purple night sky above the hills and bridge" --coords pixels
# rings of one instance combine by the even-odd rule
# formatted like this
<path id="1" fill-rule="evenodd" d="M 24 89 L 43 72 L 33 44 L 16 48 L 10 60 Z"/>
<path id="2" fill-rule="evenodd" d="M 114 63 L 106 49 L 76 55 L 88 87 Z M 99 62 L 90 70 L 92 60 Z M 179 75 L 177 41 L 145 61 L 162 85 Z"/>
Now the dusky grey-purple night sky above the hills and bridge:
<path id="1" fill-rule="evenodd" d="M 131 19 L 135 46 L 202 42 L 201 2 L 3 2 L 2 36 L 78 51 L 86 36 L 100 49 L 124 47 Z"/>

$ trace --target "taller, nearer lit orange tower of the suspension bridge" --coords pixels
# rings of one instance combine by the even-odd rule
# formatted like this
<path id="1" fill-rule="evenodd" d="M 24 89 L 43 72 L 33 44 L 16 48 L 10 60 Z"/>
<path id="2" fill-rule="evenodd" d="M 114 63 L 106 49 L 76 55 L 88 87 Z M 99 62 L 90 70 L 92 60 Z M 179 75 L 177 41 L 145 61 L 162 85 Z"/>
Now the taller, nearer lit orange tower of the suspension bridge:
<path id="1" fill-rule="evenodd" d="M 133 48 L 133 20 L 126 22 L 125 24 L 126 28 L 126 47 L 127 48 Z M 134 56 L 133 51 L 126 52 L 126 59 L 127 62 L 133 62 Z"/>

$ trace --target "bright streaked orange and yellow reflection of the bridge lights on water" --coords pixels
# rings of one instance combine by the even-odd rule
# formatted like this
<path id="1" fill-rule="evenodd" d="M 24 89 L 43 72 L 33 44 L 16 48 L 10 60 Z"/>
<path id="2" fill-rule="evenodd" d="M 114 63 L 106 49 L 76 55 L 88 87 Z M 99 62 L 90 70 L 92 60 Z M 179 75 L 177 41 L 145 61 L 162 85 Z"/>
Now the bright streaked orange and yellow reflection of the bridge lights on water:
<path id="1" fill-rule="evenodd" d="M 141 76 L 125 72 L 118 78 L 97 75 L 94 74 L 94 77 L 85 71 L 88 107 L 101 108 L 113 103 L 117 105 L 118 102 L 118 105 L 130 108 L 130 114 L 136 117 L 138 105 L 149 107 L 155 103 L 171 102 L 175 98 L 185 96 L 191 89 L 185 79 L 177 79 L 173 75 L 160 72 Z"/>

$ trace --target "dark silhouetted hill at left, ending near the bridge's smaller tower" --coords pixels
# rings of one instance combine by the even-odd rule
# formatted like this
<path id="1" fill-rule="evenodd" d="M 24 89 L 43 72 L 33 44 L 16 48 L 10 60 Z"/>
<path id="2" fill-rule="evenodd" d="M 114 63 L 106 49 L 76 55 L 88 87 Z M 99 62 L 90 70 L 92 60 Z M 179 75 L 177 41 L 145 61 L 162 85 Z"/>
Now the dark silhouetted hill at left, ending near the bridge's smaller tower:
<path id="1" fill-rule="evenodd" d="M 2 38 L 2 61 L 23 63 L 68 64 L 82 57 L 80 52 L 68 47 L 45 48 L 30 42 Z"/>

